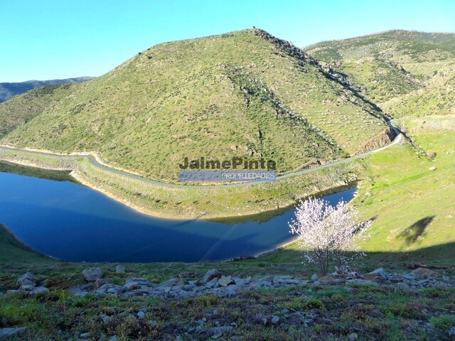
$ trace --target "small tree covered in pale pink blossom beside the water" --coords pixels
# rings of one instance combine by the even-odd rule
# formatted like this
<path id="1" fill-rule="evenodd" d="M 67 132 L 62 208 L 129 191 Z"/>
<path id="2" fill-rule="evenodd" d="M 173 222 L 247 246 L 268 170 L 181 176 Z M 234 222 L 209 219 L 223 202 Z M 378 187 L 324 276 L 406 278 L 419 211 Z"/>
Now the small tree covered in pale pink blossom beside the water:
<path id="1" fill-rule="evenodd" d="M 321 274 L 327 273 L 331 259 L 341 266 L 354 256 L 364 255 L 354 241 L 368 238 L 365 232 L 371 220 L 360 222 L 358 210 L 346 204 L 342 200 L 333 207 L 326 200 L 310 198 L 300 203 L 296 219 L 289 223 L 305 258 L 319 264 Z"/>

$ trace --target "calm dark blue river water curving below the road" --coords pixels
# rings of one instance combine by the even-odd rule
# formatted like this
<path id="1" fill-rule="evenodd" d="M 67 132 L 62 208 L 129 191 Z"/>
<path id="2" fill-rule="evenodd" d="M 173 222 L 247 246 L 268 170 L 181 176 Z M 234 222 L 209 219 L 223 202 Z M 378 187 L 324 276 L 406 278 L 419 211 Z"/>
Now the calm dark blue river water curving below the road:
<path id="1" fill-rule="evenodd" d="M 55 174 L 3 164 L 0 224 L 32 249 L 58 259 L 224 260 L 267 251 L 292 238 L 287 223 L 294 209 L 262 223 L 160 219 Z M 354 193 L 355 188 L 325 198 L 336 204 L 341 198 L 351 200 Z"/>

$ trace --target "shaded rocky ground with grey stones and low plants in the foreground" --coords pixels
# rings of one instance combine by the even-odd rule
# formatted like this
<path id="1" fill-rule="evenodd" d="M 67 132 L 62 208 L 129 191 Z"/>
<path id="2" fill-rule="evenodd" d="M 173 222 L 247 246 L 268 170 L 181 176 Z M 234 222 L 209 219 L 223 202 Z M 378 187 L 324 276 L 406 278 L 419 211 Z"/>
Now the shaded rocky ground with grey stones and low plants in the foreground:
<path id="1" fill-rule="evenodd" d="M 124 271 L 117 266 L 115 274 Z M 16 281 L 17 289 L 0 297 L 48 304 L 63 296 L 63 313 L 61 305 L 55 312 L 65 320 L 60 336 L 36 340 L 384 340 L 387 320 L 395 315 L 407 337 L 455 337 L 455 280 L 423 267 L 402 274 L 380 268 L 363 275 L 345 267 L 311 279 L 240 278 L 210 269 L 200 279 L 176 277 L 162 283 L 126 276 L 124 283 L 114 283 L 101 268 L 87 268 L 82 277 L 86 284 L 55 298 L 47 280 L 38 282 L 28 272 Z M 387 296 L 391 301 L 381 303 Z M 402 301 L 397 297 L 408 303 L 395 302 Z M 427 300 L 433 297 L 445 297 L 449 309 Z M 75 307 L 73 318 L 67 304 Z M 0 316 L 0 339 L 35 340 L 27 325 L 17 325 L 17 320 L 7 325 L 7 320 Z M 127 330 L 119 328 L 125 324 Z"/>

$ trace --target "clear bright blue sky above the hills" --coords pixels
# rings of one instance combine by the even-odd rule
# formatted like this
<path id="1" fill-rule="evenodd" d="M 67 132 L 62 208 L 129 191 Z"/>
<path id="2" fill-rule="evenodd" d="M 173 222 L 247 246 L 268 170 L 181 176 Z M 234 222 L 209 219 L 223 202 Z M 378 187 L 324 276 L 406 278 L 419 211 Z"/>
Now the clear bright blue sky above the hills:
<path id="1" fill-rule="evenodd" d="M 0 82 L 99 76 L 157 43 L 252 26 L 299 47 L 455 32 L 455 1 L 0 0 Z"/>

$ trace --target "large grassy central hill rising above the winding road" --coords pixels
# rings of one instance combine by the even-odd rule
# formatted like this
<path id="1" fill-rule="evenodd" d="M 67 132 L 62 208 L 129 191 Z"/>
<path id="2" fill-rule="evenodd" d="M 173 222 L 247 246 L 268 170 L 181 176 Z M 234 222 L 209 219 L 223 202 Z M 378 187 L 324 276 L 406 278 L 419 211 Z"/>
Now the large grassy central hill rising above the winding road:
<path id="1" fill-rule="evenodd" d="M 302 50 L 258 30 L 162 43 L 102 77 L 0 104 L 0 143 L 92 151 L 174 181 L 184 157 L 266 158 L 279 173 L 389 141 L 382 113 Z"/>

